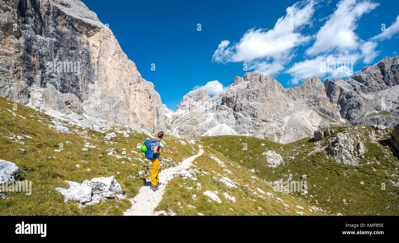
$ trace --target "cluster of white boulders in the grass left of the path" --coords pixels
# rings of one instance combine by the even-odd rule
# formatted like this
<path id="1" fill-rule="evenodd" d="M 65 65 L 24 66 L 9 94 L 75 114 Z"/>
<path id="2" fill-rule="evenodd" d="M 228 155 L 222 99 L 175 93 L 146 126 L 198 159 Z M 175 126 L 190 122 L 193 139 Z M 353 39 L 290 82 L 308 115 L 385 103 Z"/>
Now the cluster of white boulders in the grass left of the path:
<path id="1" fill-rule="evenodd" d="M 105 198 L 125 199 L 122 195 L 122 188 L 119 183 L 111 177 L 93 178 L 90 181 L 85 180 L 82 183 L 73 181 L 65 181 L 69 184 L 69 188 L 58 187 L 55 190 L 64 195 L 64 202 L 68 200 L 76 200 L 79 202 L 79 208 L 87 205 L 98 204 Z M 119 192 L 115 196 L 115 192 Z"/>

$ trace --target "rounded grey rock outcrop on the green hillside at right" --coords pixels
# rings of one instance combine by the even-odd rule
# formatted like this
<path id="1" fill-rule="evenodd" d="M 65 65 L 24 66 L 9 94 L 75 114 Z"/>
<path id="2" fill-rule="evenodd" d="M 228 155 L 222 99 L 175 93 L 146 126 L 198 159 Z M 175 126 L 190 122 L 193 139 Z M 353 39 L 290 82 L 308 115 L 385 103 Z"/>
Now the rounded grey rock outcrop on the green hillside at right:
<path id="1" fill-rule="evenodd" d="M 353 140 L 344 132 L 337 134 L 336 138 L 328 144 L 328 153 L 336 163 L 344 165 L 358 165 L 359 159 L 354 154 Z"/>

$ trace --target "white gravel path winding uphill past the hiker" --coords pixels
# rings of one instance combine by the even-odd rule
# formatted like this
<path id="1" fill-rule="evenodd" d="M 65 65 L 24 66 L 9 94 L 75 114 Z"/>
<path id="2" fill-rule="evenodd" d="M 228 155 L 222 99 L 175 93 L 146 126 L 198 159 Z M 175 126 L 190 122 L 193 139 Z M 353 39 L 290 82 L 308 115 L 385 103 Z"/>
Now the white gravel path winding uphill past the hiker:
<path id="1" fill-rule="evenodd" d="M 123 213 L 125 216 L 150 216 L 150 215 L 158 215 L 158 213 L 154 214 L 154 208 L 158 206 L 159 202 L 162 199 L 162 196 L 165 192 L 166 178 L 171 175 L 176 174 L 182 169 L 188 169 L 192 165 L 192 161 L 196 159 L 196 157 L 201 156 L 203 154 L 203 149 L 201 145 L 199 146 L 198 154 L 188 157 L 184 159 L 181 163 L 179 163 L 176 167 L 170 167 L 168 169 L 164 169 L 159 173 L 159 181 L 162 182 L 162 185 L 159 186 L 158 191 L 152 191 L 150 189 L 151 182 L 147 181 L 144 186 L 140 188 L 136 197 L 130 199 L 132 202 L 132 206 Z"/>

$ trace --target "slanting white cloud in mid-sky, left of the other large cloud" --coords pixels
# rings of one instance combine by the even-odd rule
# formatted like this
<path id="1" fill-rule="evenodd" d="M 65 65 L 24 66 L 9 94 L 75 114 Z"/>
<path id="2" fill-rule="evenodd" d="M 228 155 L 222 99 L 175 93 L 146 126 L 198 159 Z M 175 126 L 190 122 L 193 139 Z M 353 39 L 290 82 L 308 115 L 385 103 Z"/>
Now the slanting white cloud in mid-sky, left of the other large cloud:
<path id="1" fill-rule="evenodd" d="M 249 29 L 238 43 L 221 41 L 212 56 L 214 62 L 246 62 L 250 68 L 265 75 L 282 70 L 283 62 L 290 60 L 294 47 L 310 40 L 299 31 L 311 22 L 314 0 L 297 2 L 286 9 L 273 29 Z M 276 70 L 275 68 L 278 68 Z"/>

